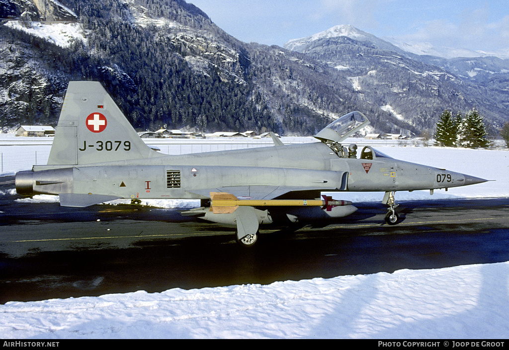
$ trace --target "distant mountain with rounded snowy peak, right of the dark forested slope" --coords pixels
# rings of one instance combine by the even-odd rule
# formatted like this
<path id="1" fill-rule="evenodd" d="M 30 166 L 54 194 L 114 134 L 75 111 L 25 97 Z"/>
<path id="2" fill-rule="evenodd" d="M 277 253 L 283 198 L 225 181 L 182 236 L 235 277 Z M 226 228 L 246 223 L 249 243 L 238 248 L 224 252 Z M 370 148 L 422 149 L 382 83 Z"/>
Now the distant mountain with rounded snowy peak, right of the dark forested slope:
<path id="1" fill-rule="evenodd" d="M 402 47 L 351 25 L 334 26 L 285 44 L 287 49 L 338 70 L 351 81 L 359 99 L 367 99 L 393 116 L 389 125 L 404 128 L 394 122 L 398 120 L 416 129 L 433 129 L 430 111 L 449 108 L 463 112 L 469 106 L 482 110 L 494 128 L 507 121 L 509 60 L 480 55 L 445 59 L 416 54 L 425 51 L 415 46 L 406 47 L 413 52 Z"/>

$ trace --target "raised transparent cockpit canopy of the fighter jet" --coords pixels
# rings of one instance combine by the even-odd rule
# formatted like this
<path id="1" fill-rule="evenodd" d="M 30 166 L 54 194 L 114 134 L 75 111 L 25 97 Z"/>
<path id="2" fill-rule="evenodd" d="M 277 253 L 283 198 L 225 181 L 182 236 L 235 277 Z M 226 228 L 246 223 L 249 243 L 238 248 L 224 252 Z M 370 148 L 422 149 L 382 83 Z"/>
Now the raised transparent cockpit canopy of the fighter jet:
<path id="1" fill-rule="evenodd" d="M 315 138 L 323 142 L 332 141 L 339 143 L 369 124 L 370 121 L 361 112 L 350 112 L 327 125 L 315 135 Z"/>

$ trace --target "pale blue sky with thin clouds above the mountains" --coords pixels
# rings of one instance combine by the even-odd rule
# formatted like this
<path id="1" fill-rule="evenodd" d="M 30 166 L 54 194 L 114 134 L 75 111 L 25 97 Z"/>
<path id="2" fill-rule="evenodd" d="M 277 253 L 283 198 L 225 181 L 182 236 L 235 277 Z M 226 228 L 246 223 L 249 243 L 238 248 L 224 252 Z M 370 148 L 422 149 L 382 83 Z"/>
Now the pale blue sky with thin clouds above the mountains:
<path id="1" fill-rule="evenodd" d="M 187 0 L 244 42 L 283 46 L 351 24 L 410 44 L 509 53 L 506 0 Z"/>

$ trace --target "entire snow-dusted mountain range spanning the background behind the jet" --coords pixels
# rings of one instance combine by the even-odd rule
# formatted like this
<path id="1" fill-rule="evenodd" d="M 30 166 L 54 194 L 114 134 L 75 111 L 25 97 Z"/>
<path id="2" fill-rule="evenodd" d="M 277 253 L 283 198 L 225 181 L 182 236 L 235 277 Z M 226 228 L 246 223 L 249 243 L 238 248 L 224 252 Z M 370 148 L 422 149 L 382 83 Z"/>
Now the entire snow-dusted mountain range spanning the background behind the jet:
<path id="1" fill-rule="evenodd" d="M 419 134 L 445 108 L 495 128 L 509 115 L 505 61 L 417 56 L 351 26 L 289 50 L 242 43 L 183 0 L 0 0 L 0 18 L 0 127 L 54 125 L 69 80 L 100 81 L 143 130 L 313 135 L 361 110 Z"/>

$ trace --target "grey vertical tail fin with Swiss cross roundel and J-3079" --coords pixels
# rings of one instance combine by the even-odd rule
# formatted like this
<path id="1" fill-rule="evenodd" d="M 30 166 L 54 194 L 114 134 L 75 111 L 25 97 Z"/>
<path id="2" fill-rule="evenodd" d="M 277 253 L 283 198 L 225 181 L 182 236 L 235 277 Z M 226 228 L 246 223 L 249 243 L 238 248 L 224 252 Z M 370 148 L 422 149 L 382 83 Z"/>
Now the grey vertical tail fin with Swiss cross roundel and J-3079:
<path id="1" fill-rule="evenodd" d="M 138 136 L 101 83 L 69 82 L 48 165 L 160 156 Z"/>

